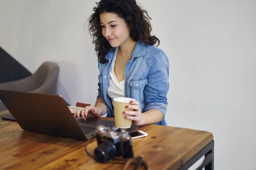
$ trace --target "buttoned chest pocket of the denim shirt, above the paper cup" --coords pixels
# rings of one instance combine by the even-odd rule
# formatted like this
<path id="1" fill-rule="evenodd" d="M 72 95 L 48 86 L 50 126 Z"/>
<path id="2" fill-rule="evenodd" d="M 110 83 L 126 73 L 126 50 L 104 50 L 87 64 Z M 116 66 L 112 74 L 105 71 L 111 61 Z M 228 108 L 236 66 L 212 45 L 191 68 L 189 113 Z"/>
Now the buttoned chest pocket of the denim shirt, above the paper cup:
<path id="1" fill-rule="evenodd" d="M 131 97 L 137 101 L 142 101 L 144 98 L 144 88 L 148 84 L 148 79 L 131 79 L 129 86 L 131 87 Z"/>

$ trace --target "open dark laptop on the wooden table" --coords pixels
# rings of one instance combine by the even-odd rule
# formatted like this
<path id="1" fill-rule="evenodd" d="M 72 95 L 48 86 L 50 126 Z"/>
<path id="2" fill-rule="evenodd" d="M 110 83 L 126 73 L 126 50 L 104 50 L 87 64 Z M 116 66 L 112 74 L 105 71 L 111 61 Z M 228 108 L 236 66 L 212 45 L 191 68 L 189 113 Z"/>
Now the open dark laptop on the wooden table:
<path id="1" fill-rule="evenodd" d="M 98 125 L 115 126 L 113 121 L 97 118 L 85 122 L 77 119 L 59 95 L 0 90 L 0 99 L 20 127 L 31 132 L 88 140 Z M 137 126 L 132 126 L 127 130 L 136 129 Z"/>

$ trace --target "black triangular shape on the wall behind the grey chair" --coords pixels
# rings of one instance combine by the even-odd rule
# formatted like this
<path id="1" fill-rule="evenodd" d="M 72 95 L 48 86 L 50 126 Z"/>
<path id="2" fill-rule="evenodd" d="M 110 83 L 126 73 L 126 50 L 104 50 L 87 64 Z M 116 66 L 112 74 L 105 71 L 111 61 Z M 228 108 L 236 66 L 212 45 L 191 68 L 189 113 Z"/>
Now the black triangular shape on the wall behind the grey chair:
<path id="1" fill-rule="evenodd" d="M 22 79 L 31 73 L 0 47 L 0 83 Z"/>

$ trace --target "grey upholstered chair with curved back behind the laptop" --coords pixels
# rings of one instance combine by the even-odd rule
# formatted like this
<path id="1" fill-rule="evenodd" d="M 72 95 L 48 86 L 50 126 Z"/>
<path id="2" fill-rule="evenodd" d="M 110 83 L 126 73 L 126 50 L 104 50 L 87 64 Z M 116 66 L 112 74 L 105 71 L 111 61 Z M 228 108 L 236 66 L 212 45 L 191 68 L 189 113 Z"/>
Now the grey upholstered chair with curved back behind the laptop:
<path id="1" fill-rule="evenodd" d="M 12 82 L 0 83 L 1 90 L 23 91 L 41 94 L 57 94 L 59 66 L 55 62 L 44 62 L 34 74 Z M 0 111 L 7 108 L 0 100 Z"/>

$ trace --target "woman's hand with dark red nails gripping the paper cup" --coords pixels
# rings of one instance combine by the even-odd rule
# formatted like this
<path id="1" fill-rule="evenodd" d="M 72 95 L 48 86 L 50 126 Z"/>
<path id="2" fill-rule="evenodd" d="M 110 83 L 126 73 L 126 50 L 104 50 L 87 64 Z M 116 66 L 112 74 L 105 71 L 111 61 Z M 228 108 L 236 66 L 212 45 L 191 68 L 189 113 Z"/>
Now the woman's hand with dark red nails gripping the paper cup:
<path id="1" fill-rule="evenodd" d="M 125 111 L 123 112 L 125 114 L 125 119 L 132 120 L 132 123 L 134 125 L 141 125 L 141 109 L 140 109 L 140 102 L 136 101 L 135 99 L 130 101 L 131 105 L 126 106 L 128 109 L 133 109 L 134 111 Z M 131 115 L 131 116 L 130 116 Z"/>

